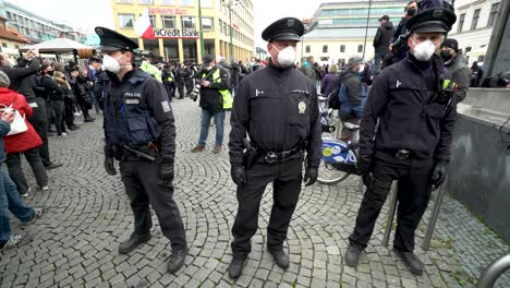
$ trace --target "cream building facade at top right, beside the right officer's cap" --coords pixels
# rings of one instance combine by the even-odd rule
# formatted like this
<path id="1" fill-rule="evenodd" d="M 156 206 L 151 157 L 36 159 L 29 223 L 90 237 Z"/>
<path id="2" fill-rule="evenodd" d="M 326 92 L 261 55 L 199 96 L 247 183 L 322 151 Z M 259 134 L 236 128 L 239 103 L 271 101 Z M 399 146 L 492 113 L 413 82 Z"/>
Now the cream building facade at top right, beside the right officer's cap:
<path id="1" fill-rule="evenodd" d="M 470 64 L 483 62 L 501 0 L 456 0 L 457 22 L 448 37 L 459 41 Z M 508 17 L 508 15 L 507 15 Z"/>

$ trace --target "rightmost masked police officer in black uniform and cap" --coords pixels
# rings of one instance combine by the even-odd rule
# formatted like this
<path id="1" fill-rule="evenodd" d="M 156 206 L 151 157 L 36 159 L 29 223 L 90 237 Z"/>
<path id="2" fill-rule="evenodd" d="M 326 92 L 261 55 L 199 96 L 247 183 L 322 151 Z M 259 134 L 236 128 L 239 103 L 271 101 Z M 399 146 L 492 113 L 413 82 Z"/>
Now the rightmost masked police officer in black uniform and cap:
<path id="1" fill-rule="evenodd" d="M 360 130 L 359 169 L 367 189 L 349 237 L 349 266 L 356 266 L 391 181 L 398 180 L 393 248 L 412 273 L 423 273 L 423 264 L 413 253 L 414 231 L 433 187 L 445 181 L 457 115 L 450 75 L 435 52 L 454 22 L 449 9 L 415 14 L 405 24 L 411 32 L 410 52 L 374 82 Z"/>

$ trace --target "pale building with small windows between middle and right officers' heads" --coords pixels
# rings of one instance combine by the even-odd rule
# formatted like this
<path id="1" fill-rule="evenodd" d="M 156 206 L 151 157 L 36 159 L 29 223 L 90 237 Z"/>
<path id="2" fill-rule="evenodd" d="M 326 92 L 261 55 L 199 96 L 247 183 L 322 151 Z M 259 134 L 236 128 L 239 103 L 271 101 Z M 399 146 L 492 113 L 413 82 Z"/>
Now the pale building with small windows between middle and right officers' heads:
<path id="1" fill-rule="evenodd" d="M 324 2 L 315 12 L 298 56 L 313 56 L 319 63 L 338 63 L 353 55 L 374 58 L 373 40 L 378 19 L 389 15 L 397 26 L 405 14 L 408 0 L 340 0 Z M 368 25 L 367 25 L 368 23 Z"/>

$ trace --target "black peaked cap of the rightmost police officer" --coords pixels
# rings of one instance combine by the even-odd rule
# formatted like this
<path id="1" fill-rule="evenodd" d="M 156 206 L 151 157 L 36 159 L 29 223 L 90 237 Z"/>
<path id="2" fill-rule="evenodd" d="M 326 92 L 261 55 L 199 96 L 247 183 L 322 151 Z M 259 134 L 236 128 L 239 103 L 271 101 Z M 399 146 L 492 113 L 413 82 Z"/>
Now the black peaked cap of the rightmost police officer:
<path id="1" fill-rule="evenodd" d="M 410 17 L 405 28 L 411 33 L 447 33 L 456 21 L 456 13 L 451 9 L 428 9 Z"/>

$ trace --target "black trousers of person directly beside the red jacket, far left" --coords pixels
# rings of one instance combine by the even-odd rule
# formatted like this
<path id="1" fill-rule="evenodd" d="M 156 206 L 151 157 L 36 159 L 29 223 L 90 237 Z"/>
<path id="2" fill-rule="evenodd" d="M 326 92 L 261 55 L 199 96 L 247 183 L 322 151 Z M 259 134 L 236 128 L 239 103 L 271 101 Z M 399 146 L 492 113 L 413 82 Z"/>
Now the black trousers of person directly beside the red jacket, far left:
<path id="1" fill-rule="evenodd" d="M 34 113 L 28 119 L 34 127 L 39 137 L 42 140 L 42 145 L 39 146 L 39 155 L 42 164 L 46 166 L 51 165 L 48 147 L 48 115 L 46 112 L 46 101 L 40 97 L 36 97 L 37 107 L 34 108 Z M 49 107 L 48 107 L 49 109 Z"/>

